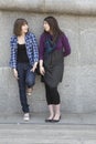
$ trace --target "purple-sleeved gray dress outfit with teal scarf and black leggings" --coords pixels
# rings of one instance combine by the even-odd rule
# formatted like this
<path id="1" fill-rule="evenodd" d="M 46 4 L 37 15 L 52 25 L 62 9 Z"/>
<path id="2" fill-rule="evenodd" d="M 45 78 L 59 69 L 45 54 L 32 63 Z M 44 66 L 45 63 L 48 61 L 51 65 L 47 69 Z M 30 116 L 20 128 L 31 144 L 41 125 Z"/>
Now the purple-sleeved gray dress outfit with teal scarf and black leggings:
<path id="1" fill-rule="evenodd" d="M 71 47 L 65 34 L 57 38 L 53 43 L 50 33 L 43 33 L 40 39 L 40 60 L 43 60 L 47 104 L 60 104 L 60 94 L 57 85 L 62 82 L 64 71 L 64 56 L 71 53 Z"/>

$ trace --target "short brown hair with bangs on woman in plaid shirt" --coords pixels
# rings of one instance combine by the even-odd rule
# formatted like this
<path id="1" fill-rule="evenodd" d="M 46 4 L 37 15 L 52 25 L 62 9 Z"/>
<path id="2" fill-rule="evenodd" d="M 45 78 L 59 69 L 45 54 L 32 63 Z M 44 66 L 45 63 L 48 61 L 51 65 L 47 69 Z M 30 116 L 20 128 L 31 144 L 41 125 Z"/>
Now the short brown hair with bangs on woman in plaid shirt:
<path id="1" fill-rule="evenodd" d="M 14 21 L 14 27 L 13 27 L 13 34 L 15 34 L 17 37 L 21 35 L 21 28 L 22 25 L 28 24 L 28 21 L 25 19 L 17 19 Z"/>

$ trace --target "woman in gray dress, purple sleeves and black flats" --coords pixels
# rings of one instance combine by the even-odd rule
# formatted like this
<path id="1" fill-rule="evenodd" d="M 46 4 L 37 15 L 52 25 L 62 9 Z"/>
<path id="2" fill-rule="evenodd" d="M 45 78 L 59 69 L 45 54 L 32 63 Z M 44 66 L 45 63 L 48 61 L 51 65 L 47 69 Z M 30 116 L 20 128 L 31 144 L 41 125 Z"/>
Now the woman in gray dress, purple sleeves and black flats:
<path id="1" fill-rule="evenodd" d="M 64 56 L 71 53 L 71 47 L 54 17 L 46 17 L 43 27 L 44 32 L 40 38 L 40 73 L 45 84 L 46 102 L 50 110 L 50 116 L 45 122 L 58 122 L 61 99 L 57 86 L 63 78 Z"/>

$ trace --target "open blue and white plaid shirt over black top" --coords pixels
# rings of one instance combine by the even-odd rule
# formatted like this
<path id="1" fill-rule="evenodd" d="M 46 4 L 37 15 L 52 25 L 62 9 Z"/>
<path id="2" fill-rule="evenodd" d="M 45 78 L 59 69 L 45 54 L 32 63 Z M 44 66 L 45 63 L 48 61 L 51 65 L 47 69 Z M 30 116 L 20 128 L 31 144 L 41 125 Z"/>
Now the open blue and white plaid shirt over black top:
<path id="1" fill-rule="evenodd" d="M 13 35 L 10 41 L 11 58 L 10 66 L 17 69 L 17 52 L 18 52 L 18 37 Z M 28 32 L 25 35 L 25 48 L 30 64 L 33 66 L 34 62 L 39 61 L 39 49 L 35 35 Z"/>

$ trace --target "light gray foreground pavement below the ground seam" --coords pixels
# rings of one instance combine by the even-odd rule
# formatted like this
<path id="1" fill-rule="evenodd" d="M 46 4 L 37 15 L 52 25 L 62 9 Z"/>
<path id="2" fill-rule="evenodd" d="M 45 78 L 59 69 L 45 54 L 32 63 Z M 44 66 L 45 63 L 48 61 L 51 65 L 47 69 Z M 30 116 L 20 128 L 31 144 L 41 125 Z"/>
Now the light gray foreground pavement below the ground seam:
<path id="1" fill-rule="evenodd" d="M 96 144 L 96 125 L 2 124 L 0 144 Z"/>

